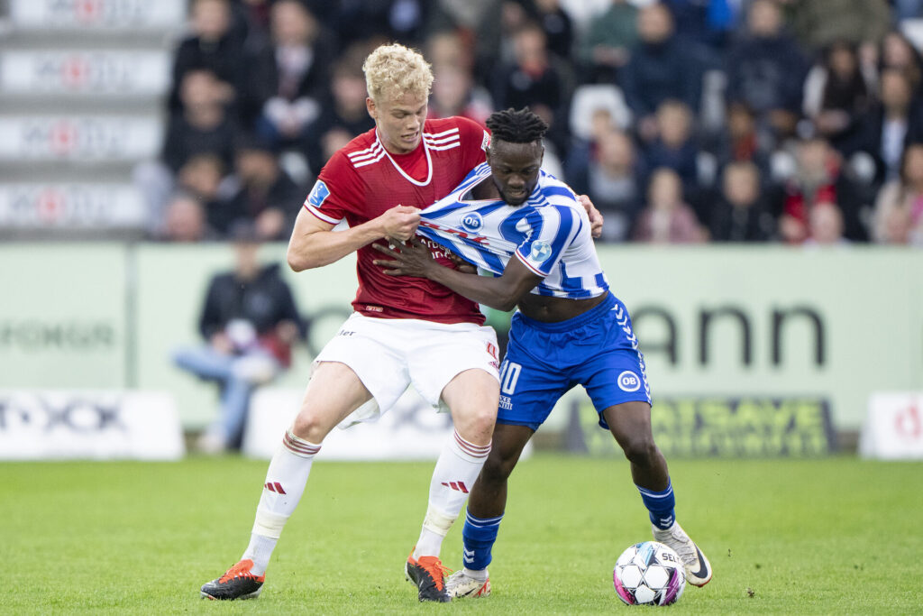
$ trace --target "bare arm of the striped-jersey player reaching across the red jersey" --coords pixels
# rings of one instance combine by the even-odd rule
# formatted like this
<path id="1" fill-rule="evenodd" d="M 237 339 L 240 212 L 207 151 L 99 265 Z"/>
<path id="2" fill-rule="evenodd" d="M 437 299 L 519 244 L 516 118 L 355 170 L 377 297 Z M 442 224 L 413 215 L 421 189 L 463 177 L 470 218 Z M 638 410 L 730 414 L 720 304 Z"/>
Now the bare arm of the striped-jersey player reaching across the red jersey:
<path id="1" fill-rule="evenodd" d="M 527 295 L 542 281 L 541 276 L 526 268 L 519 259 L 510 259 L 506 270 L 499 278 L 478 276 L 443 267 L 433 259 L 433 254 L 426 244 L 415 237 L 410 242 L 402 244 L 399 247 L 400 252 L 380 244 L 375 244 L 372 248 L 391 258 L 374 261 L 376 265 L 385 268 L 385 273 L 391 276 L 428 278 L 448 286 L 459 295 L 497 310 L 507 311 L 515 308 L 521 297 Z"/>

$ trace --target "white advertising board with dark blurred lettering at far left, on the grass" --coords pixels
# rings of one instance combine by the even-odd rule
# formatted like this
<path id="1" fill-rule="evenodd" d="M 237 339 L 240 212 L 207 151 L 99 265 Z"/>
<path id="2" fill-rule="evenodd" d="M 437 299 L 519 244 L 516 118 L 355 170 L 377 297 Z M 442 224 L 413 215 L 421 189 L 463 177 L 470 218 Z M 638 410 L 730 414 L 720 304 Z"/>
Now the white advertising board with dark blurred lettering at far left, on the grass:
<path id="1" fill-rule="evenodd" d="M 0 392 L 2 460 L 177 460 L 185 453 L 168 393 Z"/>

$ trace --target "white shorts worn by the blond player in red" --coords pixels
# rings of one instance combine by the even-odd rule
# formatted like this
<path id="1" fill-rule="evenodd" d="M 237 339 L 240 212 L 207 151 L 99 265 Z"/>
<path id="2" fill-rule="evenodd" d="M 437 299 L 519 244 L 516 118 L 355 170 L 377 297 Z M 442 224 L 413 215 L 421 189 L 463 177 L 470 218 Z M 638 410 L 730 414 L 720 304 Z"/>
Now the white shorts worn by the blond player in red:
<path id="1" fill-rule="evenodd" d="M 473 323 L 377 319 L 355 312 L 314 359 L 346 364 L 372 393 L 342 426 L 374 421 L 410 385 L 427 403 L 448 411 L 442 390 L 460 372 L 480 368 L 499 381 L 497 334 Z"/>

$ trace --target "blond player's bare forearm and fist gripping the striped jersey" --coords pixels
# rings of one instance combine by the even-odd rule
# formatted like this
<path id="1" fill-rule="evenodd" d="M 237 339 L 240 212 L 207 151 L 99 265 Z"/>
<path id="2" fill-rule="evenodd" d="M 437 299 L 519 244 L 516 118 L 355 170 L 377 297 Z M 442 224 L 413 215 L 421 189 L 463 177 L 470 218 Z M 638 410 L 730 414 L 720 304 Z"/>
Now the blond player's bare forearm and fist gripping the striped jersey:
<path id="1" fill-rule="evenodd" d="M 409 239 L 419 223 L 419 210 L 397 205 L 367 223 L 332 231 L 333 224 L 302 208 L 289 239 L 288 264 L 295 272 L 322 267 L 382 237 Z"/>

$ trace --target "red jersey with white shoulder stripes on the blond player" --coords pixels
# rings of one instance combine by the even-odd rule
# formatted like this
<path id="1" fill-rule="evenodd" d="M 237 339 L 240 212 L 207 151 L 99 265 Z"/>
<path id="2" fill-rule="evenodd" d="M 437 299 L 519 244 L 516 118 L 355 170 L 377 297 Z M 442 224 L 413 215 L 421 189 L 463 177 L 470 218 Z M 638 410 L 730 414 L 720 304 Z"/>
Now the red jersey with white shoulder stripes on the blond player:
<path id="1" fill-rule="evenodd" d="M 489 142 L 483 127 L 450 117 L 426 120 L 420 145 L 407 154 L 392 154 L 373 128 L 330 157 L 305 207 L 322 221 L 335 224 L 346 219 L 350 226 L 377 218 L 396 205 L 423 210 L 485 161 Z M 387 240 L 378 242 L 387 244 Z M 433 256 L 451 266 L 442 248 L 433 248 Z M 484 323 L 484 315 L 470 299 L 425 278 L 389 276 L 372 263 L 381 258 L 371 244 L 356 251 L 356 311 L 385 319 Z"/>

